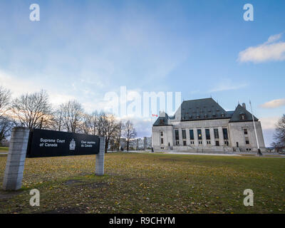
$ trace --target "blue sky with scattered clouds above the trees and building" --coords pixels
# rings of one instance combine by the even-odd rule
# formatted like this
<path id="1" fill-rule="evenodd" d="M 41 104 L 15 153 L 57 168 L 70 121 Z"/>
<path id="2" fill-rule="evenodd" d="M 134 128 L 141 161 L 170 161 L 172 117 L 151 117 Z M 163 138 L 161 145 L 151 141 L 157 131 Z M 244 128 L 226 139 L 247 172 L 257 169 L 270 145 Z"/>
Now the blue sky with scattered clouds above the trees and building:
<path id="1" fill-rule="evenodd" d="M 121 86 L 212 97 L 225 110 L 251 100 L 269 146 L 285 113 L 284 13 L 283 0 L 1 0 L 0 85 L 14 97 L 44 89 L 54 105 L 76 99 L 89 113 Z M 155 118 L 130 118 L 151 135 Z"/>

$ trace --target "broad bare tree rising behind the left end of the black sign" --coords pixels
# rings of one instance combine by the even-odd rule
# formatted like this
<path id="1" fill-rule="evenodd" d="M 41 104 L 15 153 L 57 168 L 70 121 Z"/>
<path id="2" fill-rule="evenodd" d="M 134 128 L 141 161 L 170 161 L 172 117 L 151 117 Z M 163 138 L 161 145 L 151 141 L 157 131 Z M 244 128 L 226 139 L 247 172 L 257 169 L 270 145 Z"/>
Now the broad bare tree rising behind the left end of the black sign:
<path id="1" fill-rule="evenodd" d="M 51 128 L 53 122 L 52 107 L 44 90 L 38 93 L 26 93 L 14 99 L 11 115 L 16 125 L 26 128 Z"/>

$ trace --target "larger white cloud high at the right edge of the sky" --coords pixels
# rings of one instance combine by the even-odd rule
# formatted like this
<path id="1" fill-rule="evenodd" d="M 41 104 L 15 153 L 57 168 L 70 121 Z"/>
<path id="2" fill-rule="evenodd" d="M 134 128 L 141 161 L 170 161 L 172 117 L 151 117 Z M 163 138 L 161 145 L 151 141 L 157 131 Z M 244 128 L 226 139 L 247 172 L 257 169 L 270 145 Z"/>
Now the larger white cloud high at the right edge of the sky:
<path id="1" fill-rule="evenodd" d="M 270 36 L 265 43 L 259 46 L 249 47 L 239 52 L 239 62 L 262 63 L 266 61 L 285 60 L 285 42 L 279 41 L 282 34 Z"/>

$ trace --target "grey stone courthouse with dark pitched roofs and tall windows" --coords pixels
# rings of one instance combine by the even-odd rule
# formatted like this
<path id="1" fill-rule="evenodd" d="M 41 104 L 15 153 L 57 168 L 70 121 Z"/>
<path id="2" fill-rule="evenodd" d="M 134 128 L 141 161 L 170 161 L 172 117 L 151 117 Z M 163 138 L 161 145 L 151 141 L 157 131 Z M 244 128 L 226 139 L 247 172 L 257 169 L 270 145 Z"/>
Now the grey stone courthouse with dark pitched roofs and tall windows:
<path id="1" fill-rule="evenodd" d="M 261 151 L 265 151 L 261 123 L 254 116 Z M 246 105 L 226 111 L 212 98 L 185 100 L 175 115 L 160 113 L 152 125 L 154 150 L 257 151 L 252 113 Z"/>

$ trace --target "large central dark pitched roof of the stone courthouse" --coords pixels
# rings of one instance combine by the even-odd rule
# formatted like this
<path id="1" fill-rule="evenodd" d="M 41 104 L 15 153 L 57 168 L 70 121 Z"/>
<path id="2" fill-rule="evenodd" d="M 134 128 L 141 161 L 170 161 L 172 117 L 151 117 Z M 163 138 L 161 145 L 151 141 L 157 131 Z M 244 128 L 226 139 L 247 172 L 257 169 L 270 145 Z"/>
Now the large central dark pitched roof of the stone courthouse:
<path id="1" fill-rule="evenodd" d="M 231 118 L 212 98 L 185 100 L 181 104 L 181 120 L 212 120 Z"/>

